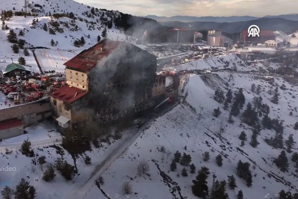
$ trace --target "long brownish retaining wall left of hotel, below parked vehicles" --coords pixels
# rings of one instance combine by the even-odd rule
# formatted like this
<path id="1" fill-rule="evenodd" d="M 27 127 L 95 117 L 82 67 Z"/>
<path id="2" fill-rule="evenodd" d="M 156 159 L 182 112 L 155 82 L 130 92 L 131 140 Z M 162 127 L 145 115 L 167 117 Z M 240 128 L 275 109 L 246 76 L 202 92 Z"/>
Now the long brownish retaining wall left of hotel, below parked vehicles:
<path id="1" fill-rule="evenodd" d="M 39 114 L 50 110 L 50 104 L 47 102 L 34 102 L 19 106 L 13 106 L 7 109 L 0 110 L 0 121 L 11 118 L 18 118 L 22 120 L 24 115 Z"/>

